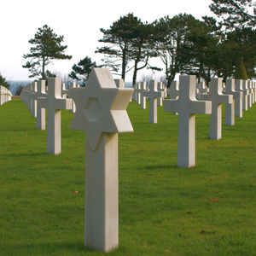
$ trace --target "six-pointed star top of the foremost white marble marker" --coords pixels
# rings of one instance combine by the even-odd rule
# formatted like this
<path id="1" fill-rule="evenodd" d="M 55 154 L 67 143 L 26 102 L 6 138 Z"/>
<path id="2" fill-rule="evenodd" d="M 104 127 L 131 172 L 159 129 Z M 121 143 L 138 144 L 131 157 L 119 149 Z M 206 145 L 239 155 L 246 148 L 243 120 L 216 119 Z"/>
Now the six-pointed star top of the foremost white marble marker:
<path id="1" fill-rule="evenodd" d="M 133 131 L 126 113 L 133 89 L 116 87 L 108 68 L 93 68 L 85 88 L 72 88 L 76 104 L 70 128 L 84 130 L 90 147 L 96 150 L 103 132 Z"/>

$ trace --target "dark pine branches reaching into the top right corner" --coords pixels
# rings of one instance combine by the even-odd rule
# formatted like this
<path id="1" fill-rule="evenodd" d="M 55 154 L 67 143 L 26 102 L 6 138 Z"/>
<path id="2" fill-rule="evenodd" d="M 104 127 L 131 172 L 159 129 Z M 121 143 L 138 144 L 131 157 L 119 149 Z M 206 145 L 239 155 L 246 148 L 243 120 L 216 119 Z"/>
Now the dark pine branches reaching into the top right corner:
<path id="1" fill-rule="evenodd" d="M 224 26 L 256 25 L 256 3 L 253 0 L 212 0 L 209 7 L 223 19 Z"/>

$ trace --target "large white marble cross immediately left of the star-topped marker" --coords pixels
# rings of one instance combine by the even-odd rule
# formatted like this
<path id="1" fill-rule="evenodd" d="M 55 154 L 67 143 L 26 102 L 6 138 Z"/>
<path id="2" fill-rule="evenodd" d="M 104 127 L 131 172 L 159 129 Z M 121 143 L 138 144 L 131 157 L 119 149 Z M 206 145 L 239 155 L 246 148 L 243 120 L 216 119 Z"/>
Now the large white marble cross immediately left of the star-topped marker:
<path id="1" fill-rule="evenodd" d="M 48 93 L 38 98 L 41 108 L 47 108 L 47 153 L 61 153 L 61 109 L 71 109 L 72 100 L 61 98 L 61 79 L 48 79 Z"/>

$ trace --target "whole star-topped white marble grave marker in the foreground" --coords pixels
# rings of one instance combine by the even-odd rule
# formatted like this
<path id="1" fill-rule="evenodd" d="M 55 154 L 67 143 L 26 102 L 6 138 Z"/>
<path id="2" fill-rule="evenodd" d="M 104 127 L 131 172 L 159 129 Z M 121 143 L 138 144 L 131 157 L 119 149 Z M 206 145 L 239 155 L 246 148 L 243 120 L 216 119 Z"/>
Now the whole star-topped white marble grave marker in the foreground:
<path id="1" fill-rule="evenodd" d="M 86 132 L 84 245 L 108 252 L 119 243 L 118 133 L 131 132 L 126 113 L 133 89 L 116 87 L 108 68 L 93 68 L 85 88 L 71 89 L 71 129 Z"/>

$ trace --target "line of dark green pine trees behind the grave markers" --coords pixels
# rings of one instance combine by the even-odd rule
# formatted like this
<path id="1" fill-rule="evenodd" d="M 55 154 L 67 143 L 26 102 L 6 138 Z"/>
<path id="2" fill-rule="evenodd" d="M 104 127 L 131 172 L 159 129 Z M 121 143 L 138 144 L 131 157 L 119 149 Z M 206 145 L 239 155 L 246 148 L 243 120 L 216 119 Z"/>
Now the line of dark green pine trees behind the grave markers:
<path id="1" fill-rule="evenodd" d="M 177 73 L 194 74 L 207 82 L 214 76 L 224 80 L 255 79 L 256 34 L 255 3 L 253 0 L 212 0 L 212 12 L 220 20 L 203 16 L 179 14 L 165 16 L 151 23 L 142 21 L 132 13 L 119 17 L 108 28 L 101 28 L 102 45 L 96 53 L 102 54 L 102 64 L 97 65 L 89 56 L 74 64 L 69 77 L 85 84 L 92 67 L 109 67 L 113 74 L 125 80 L 125 74 L 133 70 L 132 84 L 136 84 L 137 72 L 143 68 L 162 70 L 152 66 L 150 60 L 159 58 L 163 63 L 167 86 Z M 65 55 L 67 45 L 44 25 L 38 29 L 30 53 L 23 66 L 30 77 L 46 79 L 54 74 L 46 66 L 55 59 L 71 59 Z"/>

